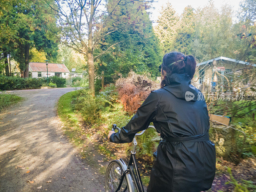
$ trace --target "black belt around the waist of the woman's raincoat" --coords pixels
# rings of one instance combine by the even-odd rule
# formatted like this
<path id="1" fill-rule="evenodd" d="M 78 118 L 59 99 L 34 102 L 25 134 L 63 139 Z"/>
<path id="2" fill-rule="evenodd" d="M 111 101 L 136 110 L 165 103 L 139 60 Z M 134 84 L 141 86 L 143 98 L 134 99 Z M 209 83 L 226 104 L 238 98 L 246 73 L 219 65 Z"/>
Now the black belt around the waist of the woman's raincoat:
<path id="1" fill-rule="evenodd" d="M 180 142 L 200 142 L 200 141 L 208 141 L 209 133 L 203 133 L 200 135 L 194 135 L 189 137 L 165 137 L 165 141 L 180 141 Z"/>

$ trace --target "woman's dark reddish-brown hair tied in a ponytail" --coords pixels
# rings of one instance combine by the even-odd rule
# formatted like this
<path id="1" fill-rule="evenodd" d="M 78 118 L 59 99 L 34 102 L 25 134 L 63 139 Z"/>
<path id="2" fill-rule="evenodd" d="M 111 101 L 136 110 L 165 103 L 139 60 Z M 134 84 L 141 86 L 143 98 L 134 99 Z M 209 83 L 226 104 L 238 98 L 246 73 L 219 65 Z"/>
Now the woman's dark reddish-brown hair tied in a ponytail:
<path id="1" fill-rule="evenodd" d="M 163 58 L 162 73 L 163 70 L 166 71 L 166 76 L 161 82 L 162 88 L 168 85 L 168 76 L 173 73 L 187 74 L 192 79 L 196 71 L 195 57 L 192 55 L 186 56 L 180 52 L 166 53 Z"/>

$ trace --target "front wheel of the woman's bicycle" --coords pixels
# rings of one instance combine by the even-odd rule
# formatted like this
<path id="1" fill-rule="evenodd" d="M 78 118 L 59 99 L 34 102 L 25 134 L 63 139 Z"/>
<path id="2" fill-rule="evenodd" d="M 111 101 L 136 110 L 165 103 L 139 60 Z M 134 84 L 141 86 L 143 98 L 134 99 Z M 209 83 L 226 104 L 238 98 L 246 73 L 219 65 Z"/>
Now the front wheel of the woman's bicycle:
<path id="1" fill-rule="evenodd" d="M 119 168 L 119 169 L 118 169 Z M 120 178 L 123 172 L 127 169 L 127 166 L 120 160 L 113 160 L 108 164 L 108 168 L 105 176 L 105 192 L 115 192 Z M 125 189 L 127 186 L 127 189 Z M 123 184 L 118 192 L 134 192 L 134 186 L 132 183 L 132 177 L 130 173 L 126 173 Z"/>

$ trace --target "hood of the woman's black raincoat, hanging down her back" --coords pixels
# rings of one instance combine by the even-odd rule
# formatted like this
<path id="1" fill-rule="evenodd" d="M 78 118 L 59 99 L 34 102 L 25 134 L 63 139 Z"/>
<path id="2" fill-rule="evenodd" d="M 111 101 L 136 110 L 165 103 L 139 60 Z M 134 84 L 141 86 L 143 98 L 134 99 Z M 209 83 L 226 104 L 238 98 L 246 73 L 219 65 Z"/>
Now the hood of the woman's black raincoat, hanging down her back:
<path id="1" fill-rule="evenodd" d="M 179 99 L 186 101 L 196 101 L 197 100 L 197 90 L 196 87 L 191 85 L 191 80 L 186 74 L 173 73 L 168 77 L 170 84 L 164 86 L 163 89 L 171 92 Z"/>

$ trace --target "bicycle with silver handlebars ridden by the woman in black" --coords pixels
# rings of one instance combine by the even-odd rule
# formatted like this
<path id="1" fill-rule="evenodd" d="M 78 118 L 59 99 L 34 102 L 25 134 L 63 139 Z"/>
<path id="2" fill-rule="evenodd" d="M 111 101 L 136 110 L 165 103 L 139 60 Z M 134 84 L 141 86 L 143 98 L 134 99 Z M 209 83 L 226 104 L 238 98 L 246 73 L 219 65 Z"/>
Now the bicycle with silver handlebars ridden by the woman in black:
<path id="1" fill-rule="evenodd" d="M 151 125 L 148 127 L 155 128 Z M 120 128 L 117 127 L 116 124 L 113 124 L 112 131 L 115 131 L 116 129 L 120 131 Z M 142 135 L 145 131 L 146 130 L 136 133 L 135 137 Z M 109 163 L 105 177 L 105 192 L 125 192 L 127 189 L 128 192 L 135 192 L 135 189 L 137 192 L 144 192 L 140 172 L 135 158 L 137 146 L 137 140 L 135 137 L 132 140 L 132 151 L 128 165 L 126 165 L 121 158 Z M 132 164 L 134 165 L 134 168 Z"/>

